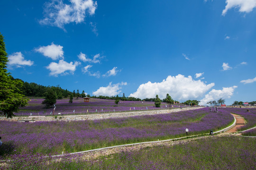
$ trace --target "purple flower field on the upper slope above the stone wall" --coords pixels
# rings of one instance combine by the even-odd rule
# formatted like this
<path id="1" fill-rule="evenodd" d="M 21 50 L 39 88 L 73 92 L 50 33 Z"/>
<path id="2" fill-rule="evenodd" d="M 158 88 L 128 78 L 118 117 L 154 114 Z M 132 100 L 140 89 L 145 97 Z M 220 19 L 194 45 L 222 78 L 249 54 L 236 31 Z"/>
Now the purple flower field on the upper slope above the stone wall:
<path id="1" fill-rule="evenodd" d="M 44 99 L 30 99 L 28 105 L 19 108 L 19 113 L 51 113 L 53 108 L 45 108 L 42 105 Z M 69 103 L 69 99 L 61 99 L 56 102 L 56 113 L 75 113 L 79 112 L 104 112 L 104 111 L 119 111 L 119 110 L 147 110 L 147 109 L 166 109 L 168 104 L 162 102 L 160 108 L 155 108 L 155 102 L 142 102 L 142 101 L 120 101 L 116 106 L 114 100 L 106 99 L 90 99 L 90 102 L 83 102 L 82 98 L 73 100 Z M 173 104 L 172 108 L 186 107 L 183 104 Z"/>

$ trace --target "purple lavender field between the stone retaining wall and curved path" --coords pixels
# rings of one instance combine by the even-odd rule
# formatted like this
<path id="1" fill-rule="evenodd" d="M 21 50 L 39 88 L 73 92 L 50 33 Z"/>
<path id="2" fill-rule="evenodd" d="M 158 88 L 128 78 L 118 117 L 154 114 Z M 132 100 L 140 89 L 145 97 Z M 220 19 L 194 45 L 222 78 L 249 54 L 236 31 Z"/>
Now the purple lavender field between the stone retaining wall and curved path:
<path id="1" fill-rule="evenodd" d="M 208 108 L 169 114 L 87 121 L 17 123 L 1 121 L 2 141 L 12 154 L 60 154 L 119 144 L 154 141 L 209 133 L 227 127 L 234 118 L 223 110 Z"/>

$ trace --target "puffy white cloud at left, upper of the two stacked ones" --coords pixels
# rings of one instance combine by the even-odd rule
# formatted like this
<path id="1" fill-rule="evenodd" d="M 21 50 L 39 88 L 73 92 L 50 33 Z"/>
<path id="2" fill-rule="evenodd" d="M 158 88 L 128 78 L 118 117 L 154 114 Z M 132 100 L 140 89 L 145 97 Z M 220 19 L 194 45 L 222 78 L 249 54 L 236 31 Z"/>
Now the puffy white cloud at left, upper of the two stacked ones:
<path id="1" fill-rule="evenodd" d="M 42 53 L 44 56 L 51 59 L 64 59 L 63 46 L 55 45 L 53 42 L 51 45 L 38 47 L 35 51 Z"/>

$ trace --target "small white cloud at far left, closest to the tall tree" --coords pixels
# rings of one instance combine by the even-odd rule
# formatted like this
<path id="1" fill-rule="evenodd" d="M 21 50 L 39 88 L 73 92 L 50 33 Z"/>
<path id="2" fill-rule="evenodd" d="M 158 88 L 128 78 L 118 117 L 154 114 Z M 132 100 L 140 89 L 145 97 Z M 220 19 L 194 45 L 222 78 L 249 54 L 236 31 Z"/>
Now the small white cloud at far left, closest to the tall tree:
<path id="1" fill-rule="evenodd" d="M 34 61 L 31 60 L 25 60 L 24 56 L 21 52 L 15 52 L 8 57 L 9 66 L 16 66 L 16 67 L 22 67 L 22 66 L 32 66 L 34 64 Z"/>

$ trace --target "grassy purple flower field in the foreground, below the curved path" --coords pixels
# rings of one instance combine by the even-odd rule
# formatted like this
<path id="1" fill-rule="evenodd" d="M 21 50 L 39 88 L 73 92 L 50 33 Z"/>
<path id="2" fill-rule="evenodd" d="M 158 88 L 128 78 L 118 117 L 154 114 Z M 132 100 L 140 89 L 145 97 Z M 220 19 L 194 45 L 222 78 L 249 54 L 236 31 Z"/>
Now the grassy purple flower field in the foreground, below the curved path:
<path id="1" fill-rule="evenodd" d="M 256 140 L 238 136 L 210 136 L 173 146 L 154 146 L 138 151 L 84 159 L 83 155 L 61 158 L 11 155 L 0 163 L 6 170 L 255 170 Z"/>

